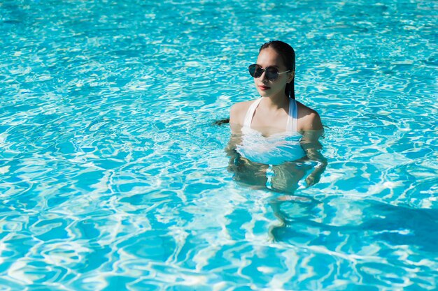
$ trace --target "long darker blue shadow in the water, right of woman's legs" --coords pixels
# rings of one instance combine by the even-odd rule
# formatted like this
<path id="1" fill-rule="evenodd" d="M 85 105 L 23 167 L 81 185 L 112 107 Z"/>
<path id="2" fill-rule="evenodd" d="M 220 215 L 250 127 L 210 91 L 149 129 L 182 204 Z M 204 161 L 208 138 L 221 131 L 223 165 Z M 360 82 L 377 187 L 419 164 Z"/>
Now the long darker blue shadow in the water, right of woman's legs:
<path id="1" fill-rule="evenodd" d="M 274 241 L 290 244 L 325 246 L 330 251 L 346 253 L 374 246 L 374 251 L 387 252 L 383 246 L 428 252 L 437 258 L 438 209 L 418 209 L 407 205 L 392 205 L 376 200 L 348 200 L 346 197 L 326 197 L 306 203 L 271 202 L 280 221 L 269 230 Z"/>

